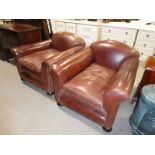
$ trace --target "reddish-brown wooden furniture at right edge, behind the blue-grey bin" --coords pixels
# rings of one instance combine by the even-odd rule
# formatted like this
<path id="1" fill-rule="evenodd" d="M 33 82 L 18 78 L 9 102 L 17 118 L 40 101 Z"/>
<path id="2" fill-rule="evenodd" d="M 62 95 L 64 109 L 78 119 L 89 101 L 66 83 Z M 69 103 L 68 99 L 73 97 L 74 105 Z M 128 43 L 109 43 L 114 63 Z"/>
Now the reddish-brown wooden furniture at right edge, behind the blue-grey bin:
<path id="1" fill-rule="evenodd" d="M 139 98 L 142 87 L 147 84 L 155 84 L 155 56 L 150 56 L 146 62 L 145 71 L 135 97 Z"/>

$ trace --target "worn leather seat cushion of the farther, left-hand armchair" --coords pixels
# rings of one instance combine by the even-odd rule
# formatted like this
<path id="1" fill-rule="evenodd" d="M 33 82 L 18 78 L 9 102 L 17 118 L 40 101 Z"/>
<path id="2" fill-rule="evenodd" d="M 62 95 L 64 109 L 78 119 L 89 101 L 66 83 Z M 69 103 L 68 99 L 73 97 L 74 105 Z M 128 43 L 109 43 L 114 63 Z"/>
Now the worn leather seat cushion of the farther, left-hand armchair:
<path id="1" fill-rule="evenodd" d="M 60 51 L 52 48 L 39 51 L 20 58 L 19 64 L 28 68 L 31 71 L 41 72 L 42 62 L 54 55 L 57 55 L 58 53 L 60 53 Z"/>

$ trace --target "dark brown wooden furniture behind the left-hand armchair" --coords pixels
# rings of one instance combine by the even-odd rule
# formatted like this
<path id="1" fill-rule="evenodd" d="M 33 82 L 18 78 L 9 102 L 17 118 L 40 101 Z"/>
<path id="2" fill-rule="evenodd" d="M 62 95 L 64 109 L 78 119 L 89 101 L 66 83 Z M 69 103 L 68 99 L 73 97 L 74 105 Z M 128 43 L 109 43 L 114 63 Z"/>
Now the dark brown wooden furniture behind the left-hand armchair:
<path id="1" fill-rule="evenodd" d="M 41 41 L 40 28 L 28 24 L 0 25 L 0 59 L 13 58 L 10 49 L 23 44 Z"/>

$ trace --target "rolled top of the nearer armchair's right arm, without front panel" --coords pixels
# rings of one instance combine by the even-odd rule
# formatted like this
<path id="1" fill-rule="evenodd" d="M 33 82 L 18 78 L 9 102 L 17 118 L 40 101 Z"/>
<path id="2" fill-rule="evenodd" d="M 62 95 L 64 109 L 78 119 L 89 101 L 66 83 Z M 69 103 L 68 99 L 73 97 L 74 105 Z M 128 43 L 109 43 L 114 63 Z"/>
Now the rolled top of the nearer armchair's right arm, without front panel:
<path id="1" fill-rule="evenodd" d="M 138 64 L 139 60 L 136 57 L 125 60 L 113 77 L 104 97 L 113 96 L 117 101 L 127 100 L 133 88 Z"/>

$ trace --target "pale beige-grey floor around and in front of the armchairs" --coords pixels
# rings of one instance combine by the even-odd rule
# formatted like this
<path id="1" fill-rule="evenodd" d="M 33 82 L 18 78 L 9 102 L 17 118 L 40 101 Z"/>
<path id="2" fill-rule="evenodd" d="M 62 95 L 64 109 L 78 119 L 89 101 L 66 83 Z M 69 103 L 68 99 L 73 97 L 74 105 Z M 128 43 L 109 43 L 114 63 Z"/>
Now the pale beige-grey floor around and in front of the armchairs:
<path id="1" fill-rule="evenodd" d="M 143 68 L 141 64 L 132 94 Z M 122 103 L 113 130 L 107 133 L 91 120 L 66 107 L 58 107 L 54 96 L 22 82 L 16 66 L 0 60 L 0 134 L 129 135 L 132 134 L 129 116 L 133 109 L 130 100 Z"/>

